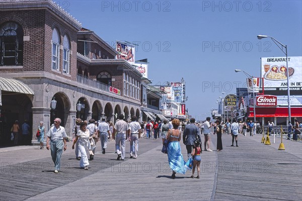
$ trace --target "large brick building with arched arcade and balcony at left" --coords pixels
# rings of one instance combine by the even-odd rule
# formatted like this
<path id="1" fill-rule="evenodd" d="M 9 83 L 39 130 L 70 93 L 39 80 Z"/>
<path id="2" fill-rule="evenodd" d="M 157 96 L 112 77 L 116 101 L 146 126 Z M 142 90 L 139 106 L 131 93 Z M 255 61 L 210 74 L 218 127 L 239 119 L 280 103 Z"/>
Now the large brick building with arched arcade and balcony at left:
<path id="1" fill-rule="evenodd" d="M 15 120 L 35 134 L 40 121 L 48 130 L 59 117 L 71 137 L 78 117 L 139 118 L 141 74 L 116 54 L 50 0 L 1 0 L 1 144 L 11 143 Z"/>

